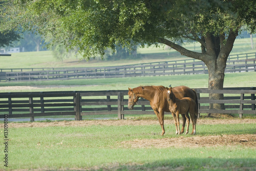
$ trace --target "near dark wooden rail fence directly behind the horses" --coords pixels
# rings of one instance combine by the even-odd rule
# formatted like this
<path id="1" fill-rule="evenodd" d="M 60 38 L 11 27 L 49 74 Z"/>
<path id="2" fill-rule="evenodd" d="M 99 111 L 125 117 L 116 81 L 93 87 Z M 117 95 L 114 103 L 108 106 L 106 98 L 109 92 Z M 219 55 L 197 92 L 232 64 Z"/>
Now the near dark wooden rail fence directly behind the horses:
<path id="1" fill-rule="evenodd" d="M 196 89 L 199 113 L 256 114 L 254 87 L 238 89 L 208 90 Z M 138 101 L 134 110 L 127 109 L 127 90 L 111 91 L 60 91 L 60 92 L 11 92 L 0 93 L 0 116 L 9 118 L 36 116 L 74 115 L 81 120 L 84 115 L 154 114 L 150 103 Z M 224 100 L 209 100 L 209 93 L 223 93 Z M 225 110 L 209 109 L 211 103 L 225 104 Z M 170 114 L 170 113 L 165 113 Z"/>

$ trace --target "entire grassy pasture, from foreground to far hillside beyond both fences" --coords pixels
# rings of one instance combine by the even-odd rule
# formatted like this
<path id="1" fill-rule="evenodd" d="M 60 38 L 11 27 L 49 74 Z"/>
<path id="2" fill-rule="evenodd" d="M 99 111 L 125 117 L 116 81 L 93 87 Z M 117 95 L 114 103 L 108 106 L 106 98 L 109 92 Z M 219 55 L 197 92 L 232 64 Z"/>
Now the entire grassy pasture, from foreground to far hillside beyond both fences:
<path id="1" fill-rule="evenodd" d="M 238 39 L 233 53 L 252 52 Z M 248 39 L 249 40 L 249 39 Z M 191 50 L 195 48 L 190 44 Z M 197 45 L 196 45 L 197 46 Z M 247 47 L 248 46 L 248 47 Z M 198 48 L 198 47 L 197 47 Z M 245 50 L 246 49 L 246 50 Z M 180 59 L 177 53 L 155 50 L 139 61 L 56 61 L 50 51 L 12 54 L 1 68 L 113 66 Z M 246 51 L 246 52 L 245 52 Z M 253 51 L 254 52 L 254 51 Z M 153 55 L 154 54 L 154 55 Z M 21 55 L 21 56 L 19 56 Z M 166 56 L 167 55 L 167 56 Z M 160 58 L 155 59 L 156 56 Z M 182 57 L 184 58 L 184 57 Z M 13 62 L 16 61 L 16 62 Z M 8 64 L 12 65 L 8 65 Z M 208 75 L 0 83 L 0 92 L 127 90 L 140 85 L 185 85 L 207 88 Z M 256 86 L 255 72 L 225 74 L 224 87 Z M 98 116 L 97 116 L 98 117 Z M 196 135 L 176 135 L 173 118 L 165 116 L 164 136 L 155 115 L 124 120 L 8 123 L 8 167 L 0 145 L 0 170 L 255 170 L 256 119 L 200 118 Z M 0 124 L 4 137 L 4 124 Z M 189 128 L 191 133 L 191 126 Z"/>

